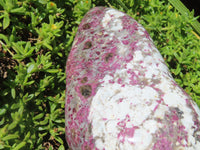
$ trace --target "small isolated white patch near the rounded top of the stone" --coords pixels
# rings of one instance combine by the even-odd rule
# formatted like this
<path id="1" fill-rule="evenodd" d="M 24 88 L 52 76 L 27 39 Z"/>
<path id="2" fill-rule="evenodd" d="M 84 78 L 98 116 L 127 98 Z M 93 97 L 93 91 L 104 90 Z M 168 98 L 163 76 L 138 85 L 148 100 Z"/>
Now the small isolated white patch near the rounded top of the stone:
<path id="1" fill-rule="evenodd" d="M 104 28 L 109 28 L 111 31 L 118 31 L 123 28 L 122 22 L 119 17 L 124 16 L 124 13 L 116 11 L 114 9 L 108 10 L 102 20 L 102 25 Z M 108 23 L 110 25 L 108 26 Z"/>

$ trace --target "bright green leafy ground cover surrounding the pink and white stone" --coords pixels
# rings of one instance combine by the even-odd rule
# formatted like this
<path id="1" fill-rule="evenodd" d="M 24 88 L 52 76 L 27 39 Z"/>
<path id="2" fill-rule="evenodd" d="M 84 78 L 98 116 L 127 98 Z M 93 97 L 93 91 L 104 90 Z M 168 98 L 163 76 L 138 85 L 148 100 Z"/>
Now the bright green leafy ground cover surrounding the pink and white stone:
<path id="1" fill-rule="evenodd" d="M 193 13 L 181 15 L 167 0 L 0 0 L 0 149 L 67 149 L 65 64 L 82 17 L 95 6 L 141 23 L 200 107 Z"/>

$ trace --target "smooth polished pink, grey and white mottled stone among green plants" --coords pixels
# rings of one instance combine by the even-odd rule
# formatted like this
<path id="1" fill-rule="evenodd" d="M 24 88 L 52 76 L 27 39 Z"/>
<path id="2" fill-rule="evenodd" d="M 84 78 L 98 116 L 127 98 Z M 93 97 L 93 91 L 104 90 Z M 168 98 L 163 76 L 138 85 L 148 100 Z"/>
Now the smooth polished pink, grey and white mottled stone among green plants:
<path id="1" fill-rule="evenodd" d="M 199 108 L 130 16 L 91 9 L 80 23 L 66 74 L 71 149 L 200 149 Z"/>

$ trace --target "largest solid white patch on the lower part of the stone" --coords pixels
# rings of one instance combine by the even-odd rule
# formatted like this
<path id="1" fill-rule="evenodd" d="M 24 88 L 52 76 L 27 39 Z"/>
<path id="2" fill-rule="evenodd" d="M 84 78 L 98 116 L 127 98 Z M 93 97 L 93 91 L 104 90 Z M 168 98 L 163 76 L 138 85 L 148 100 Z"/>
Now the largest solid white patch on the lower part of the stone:
<path id="1" fill-rule="evenodd" d="M 93 126 L 92 134 L 94 138 L 98 139 L 95 141 L 95 145 L 100 150 L 103 148 L 106 150 L 116 149 L 117 144 L 126 144 L 121 147 L 128 146 L 129 149 L 145 149 L 152 140 L 150 133 L 155 132 L 159 126 L 153 127 L 152 125 L 148 129 L 150 132 L 147 132 L 147 129 L 142 128 L 141 125 L 157 105 L 158 93 L 148 86 L 143 89 L 131 85 L 121 87 L 117 83 L 108 83 L 110 79 L 112 77 L 105 76 L 104 83 L 98 89 L 90 107 L 89 120 Z M 127 115 L 130 120 L 125 121 L 125 128 L 131 128 L 134 125 L 139 129 L 135 129 L 134 138 L 120 137 L 126 141 L 120 142 L 118 123 L 124 121 Z M 102 139 L 104 143 L 102 143 Z M 137 147 L 134 147 L 132 143 L 135 143 Z"/>

